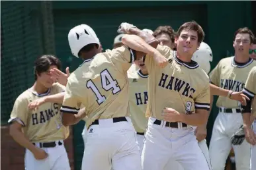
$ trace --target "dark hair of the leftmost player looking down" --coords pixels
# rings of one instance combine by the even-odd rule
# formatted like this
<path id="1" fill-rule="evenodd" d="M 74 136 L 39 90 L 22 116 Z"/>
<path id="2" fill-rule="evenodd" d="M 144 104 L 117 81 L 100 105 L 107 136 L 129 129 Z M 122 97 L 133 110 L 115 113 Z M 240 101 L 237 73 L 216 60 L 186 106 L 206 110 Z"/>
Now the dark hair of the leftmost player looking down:
<path id="1" fill-rule="evenodd" d="M 61 69 L 62 63 L 54 55 L 41 55 L 34 61 L 34 79 L 37 80 L 37 75 L 42 72 L 48 71 L 50 66 L 55 65 L 58 69 Z"/>

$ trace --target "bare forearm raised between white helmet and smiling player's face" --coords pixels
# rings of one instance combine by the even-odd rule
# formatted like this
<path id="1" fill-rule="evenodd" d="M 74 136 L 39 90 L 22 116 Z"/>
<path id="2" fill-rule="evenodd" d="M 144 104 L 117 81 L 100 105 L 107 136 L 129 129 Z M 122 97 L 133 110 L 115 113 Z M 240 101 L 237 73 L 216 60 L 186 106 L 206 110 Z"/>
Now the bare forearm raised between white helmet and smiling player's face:
<path id="1" fill-rule="evenodd" d="M 134 49 L 136 51 L 141 51 L 151 56 L 153 56 L 154 53 L 158 52 L 157 49 L 151 47 L 151 45 L 149 45 L 142 38 L 136 35 L 123 36 L 122 43 L 124 43 L 124 45 L 127 45 L 131 49 Z"/>

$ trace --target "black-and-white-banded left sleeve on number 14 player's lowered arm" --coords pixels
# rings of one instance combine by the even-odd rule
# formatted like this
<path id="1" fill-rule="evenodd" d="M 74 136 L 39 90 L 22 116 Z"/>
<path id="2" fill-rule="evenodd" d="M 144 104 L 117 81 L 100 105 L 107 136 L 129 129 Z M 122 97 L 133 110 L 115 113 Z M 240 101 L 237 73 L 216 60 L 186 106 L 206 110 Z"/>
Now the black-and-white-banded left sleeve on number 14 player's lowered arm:
<path id="1" fill-rule="evenodd" d="M 71 79 L 67 81 L 64 101 L 62 103 L 62 107 L 60 108 L 60 111 L 64 113 L 77 114 L 80 109 L 81 101 L 79 101 L 79 96 L 77 94 L 77 88 L 75 85 L 76 84 L 73 83 Z"/>

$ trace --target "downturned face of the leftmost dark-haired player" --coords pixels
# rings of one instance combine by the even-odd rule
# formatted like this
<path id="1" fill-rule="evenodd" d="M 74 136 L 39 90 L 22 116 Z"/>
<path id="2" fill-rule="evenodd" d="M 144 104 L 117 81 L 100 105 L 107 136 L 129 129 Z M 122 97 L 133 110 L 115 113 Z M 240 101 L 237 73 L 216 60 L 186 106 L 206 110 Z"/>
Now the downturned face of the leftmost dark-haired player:
<path id="1" fill-rule="evenodd" d="M 50 74 L 51 69 L 58 69 L 56 65 L 51 65 L 48 71 L 42 72 L 40 75 L 37 75 L 37 81 L 40 82 L 44 87 L 50 88 L 52 87 L 52 84 L 54 84 L 54 80 L 52 79 L 52 76 Z"/>

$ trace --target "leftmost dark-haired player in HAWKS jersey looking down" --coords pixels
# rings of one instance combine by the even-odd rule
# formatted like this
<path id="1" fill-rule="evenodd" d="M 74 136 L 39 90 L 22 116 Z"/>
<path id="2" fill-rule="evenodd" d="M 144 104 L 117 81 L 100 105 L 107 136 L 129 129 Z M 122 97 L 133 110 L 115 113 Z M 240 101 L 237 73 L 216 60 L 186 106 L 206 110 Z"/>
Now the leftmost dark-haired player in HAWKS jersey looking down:
<path id="1" fill-rule="evenodd" d="M 36 81 L 16 99 L 9 119 L 11 136 L 26 148 L 26 170 L 70 169 L 63 141 L 69 135 L 69 128 L 62 125 L 62 99 L 48 102 L 52 94 L 62 94 L 65 90 L 64 86 L 52 80 L 50 70 L 54 68 L 60 69 L 60 60 L 53 55 L 42 55 L 36 59 Z M 44 104 L 33 107 L 33 101 L 42 98 L 46 99 Z"/>

